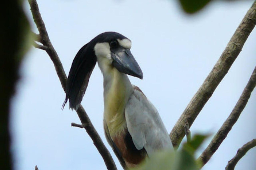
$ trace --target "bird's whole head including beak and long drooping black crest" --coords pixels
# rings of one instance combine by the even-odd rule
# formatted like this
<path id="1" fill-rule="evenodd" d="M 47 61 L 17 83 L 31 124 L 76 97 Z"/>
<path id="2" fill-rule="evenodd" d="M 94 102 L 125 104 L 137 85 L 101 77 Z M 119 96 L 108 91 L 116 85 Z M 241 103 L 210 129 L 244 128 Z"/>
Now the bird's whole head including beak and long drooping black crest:
<path id="1" fill-rule="evenodd" d="M 115 67 L 119 72 L 140 79 L 143 73 L 131 51 L 131 41 L 115 32 L 105 32 L 85 44 L 76 54 L 66 84 L 66 99 L 77 110 L 89 83 L 96 61 L 102 72 Z"/>

